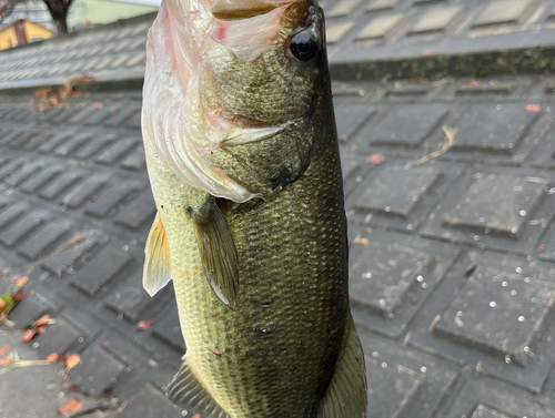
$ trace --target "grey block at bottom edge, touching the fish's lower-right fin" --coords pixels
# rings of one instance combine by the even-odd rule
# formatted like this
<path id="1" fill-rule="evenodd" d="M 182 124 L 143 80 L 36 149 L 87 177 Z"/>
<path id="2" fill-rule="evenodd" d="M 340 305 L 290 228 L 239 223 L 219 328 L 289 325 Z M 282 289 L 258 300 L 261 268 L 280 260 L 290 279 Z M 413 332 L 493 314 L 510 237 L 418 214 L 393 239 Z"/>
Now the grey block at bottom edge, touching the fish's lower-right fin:
<path id="1" fill-rule="evenodd" d="M 366 374 L 373 383 L 367 398 L 372 417 L 410 416 L 408 406 L 423 386 L 422 376 L 375 359 L 366 359 Z"/>

